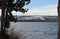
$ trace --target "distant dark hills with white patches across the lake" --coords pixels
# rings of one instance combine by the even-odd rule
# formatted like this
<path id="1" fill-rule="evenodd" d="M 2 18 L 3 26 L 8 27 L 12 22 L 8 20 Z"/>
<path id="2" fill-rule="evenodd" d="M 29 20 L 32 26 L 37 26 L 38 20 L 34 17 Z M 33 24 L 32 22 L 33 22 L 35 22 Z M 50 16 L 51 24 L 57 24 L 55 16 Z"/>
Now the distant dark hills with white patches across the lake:
<path id="1" fill-rule="evenodd" d="M 16 20 L 17 22 L 58 22 L 58 16 L 29 15 L 29 16 L 15 16 L 15 17 L 17 18 Z"/>

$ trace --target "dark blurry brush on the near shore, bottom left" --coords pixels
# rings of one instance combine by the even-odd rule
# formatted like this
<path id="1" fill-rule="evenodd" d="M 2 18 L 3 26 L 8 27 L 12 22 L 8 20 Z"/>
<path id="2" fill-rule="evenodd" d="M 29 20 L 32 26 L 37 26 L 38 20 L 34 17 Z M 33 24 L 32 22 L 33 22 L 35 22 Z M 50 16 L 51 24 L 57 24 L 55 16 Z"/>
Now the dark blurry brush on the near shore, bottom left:
<path id="1" fill-rule="evenodd" d="M 0 34 L 1 38 L 1 34 Z M 14 28 L 10 29 L 6 34 L 3 34 L 4 39 L 25 39 L 23 34 L 18 34 L 14 31 Z M 2 39 L 2 38 L 1 38 Z"/>

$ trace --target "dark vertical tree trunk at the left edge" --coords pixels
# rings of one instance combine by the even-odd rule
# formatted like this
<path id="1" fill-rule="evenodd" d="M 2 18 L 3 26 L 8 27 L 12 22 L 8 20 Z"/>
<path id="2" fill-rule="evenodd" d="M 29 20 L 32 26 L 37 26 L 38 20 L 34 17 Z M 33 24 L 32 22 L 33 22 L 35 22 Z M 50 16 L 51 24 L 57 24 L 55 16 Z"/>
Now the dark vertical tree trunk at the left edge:
<path id="1" fill-rule="evenodd" d="M 5 37 L 5 29 L 4 29 L 4 24 L 5 24 L 5 0 L 2 0 L 2 13 L 1 13 L 1 39 L 6 39 Z"/>

